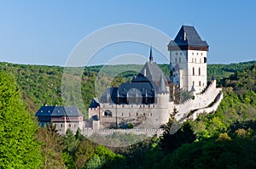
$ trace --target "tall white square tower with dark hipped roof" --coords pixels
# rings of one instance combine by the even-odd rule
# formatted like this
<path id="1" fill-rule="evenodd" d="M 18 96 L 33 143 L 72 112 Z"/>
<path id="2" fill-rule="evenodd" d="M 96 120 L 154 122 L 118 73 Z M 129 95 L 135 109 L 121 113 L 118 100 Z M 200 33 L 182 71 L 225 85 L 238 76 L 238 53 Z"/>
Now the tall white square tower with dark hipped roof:
<path id="1" fill-rule="evenodd" d="M 195 93 L 207 87 L 207 51 L 209 46 L 194 26 L 183 25 L 168 44 L 170 51 L 170 77 L 173 84 Z"/>

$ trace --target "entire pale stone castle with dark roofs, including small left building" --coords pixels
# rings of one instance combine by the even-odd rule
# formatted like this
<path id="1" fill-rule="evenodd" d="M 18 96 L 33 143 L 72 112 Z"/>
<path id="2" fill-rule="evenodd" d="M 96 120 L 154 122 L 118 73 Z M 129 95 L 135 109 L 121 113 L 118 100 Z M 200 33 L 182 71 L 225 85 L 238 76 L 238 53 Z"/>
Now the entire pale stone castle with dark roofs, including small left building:
<path id="1" fill-rule="evenodd" d="M 44 126 L 52 121 L 60 133 L 65 133 L 67 128 L 73 132 L 78 128 L 82 131 L 129 127 L 151 130 L 166 124 L 170 115 L 183 122 L 216 111 L 223 93 L 216 87 L 214 76 L 207 82 L 207 42 L 201 40 L 194 26 L 183 25 L 167 48 L 170 76 L 165 76 L 154 62 L 150 48 L 148 62 L 131 82 L 108 87 L 100 99 L 92 99 L 88 120 L 84 121 L 75 107 L 43 106 L 36 114 L 40 124 Z M 191 97 L 177 102 L 177 90 Z"/>

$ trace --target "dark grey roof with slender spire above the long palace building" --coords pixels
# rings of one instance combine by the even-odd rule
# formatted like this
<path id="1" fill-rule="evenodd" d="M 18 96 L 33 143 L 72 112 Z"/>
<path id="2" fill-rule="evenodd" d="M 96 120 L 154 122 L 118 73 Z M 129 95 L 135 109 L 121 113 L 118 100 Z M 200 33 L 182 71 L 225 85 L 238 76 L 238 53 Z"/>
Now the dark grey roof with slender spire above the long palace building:
<path id="1" fill-rule="evenodd" d="M 108 87 L 102 94 L 101 103 L 117 103 L 117 98 L 148 98 L 153 99 L 156 93 L 168 93 L 166 84 L 171 82 L 160 67 L 153 62 L 152 48 L 149 61 L 131 82 L 122 83 L 119 87 Z"/>

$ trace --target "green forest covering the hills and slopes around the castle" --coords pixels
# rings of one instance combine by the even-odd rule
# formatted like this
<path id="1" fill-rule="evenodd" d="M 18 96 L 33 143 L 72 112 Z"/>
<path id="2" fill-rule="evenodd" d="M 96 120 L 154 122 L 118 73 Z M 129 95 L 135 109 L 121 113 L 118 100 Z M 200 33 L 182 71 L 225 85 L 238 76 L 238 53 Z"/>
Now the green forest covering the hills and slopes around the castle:
<path id="1" fill-rule="evenodd" d="M 118 86 L 141 66 L 109 65 L 101 82 Z M 168 65 L 160 68 L 169 74 Z M 81 91 L 86 107 L 95 97 L 101 69 L 84 68 Z M 170 118 L 160 138 L 121 148 L 92 143 L 79 130 L 61 136 L 53 125 L 38 127 L 34 114 L 42 104 L 62 104 L 63 70 L 0 63 L 0 168 L 256 168 L 256 61 L 208 65 L 208 78 L 214 75 L 224 93 L 217 112 L 184 122 L 174 134 L 169 132 Z M 111 81 L 110 74 L 118 76 Z M 71 81 L 77 77 L 71 76 Z M 86 117 L 86 110 L 83 113 Z"/>

